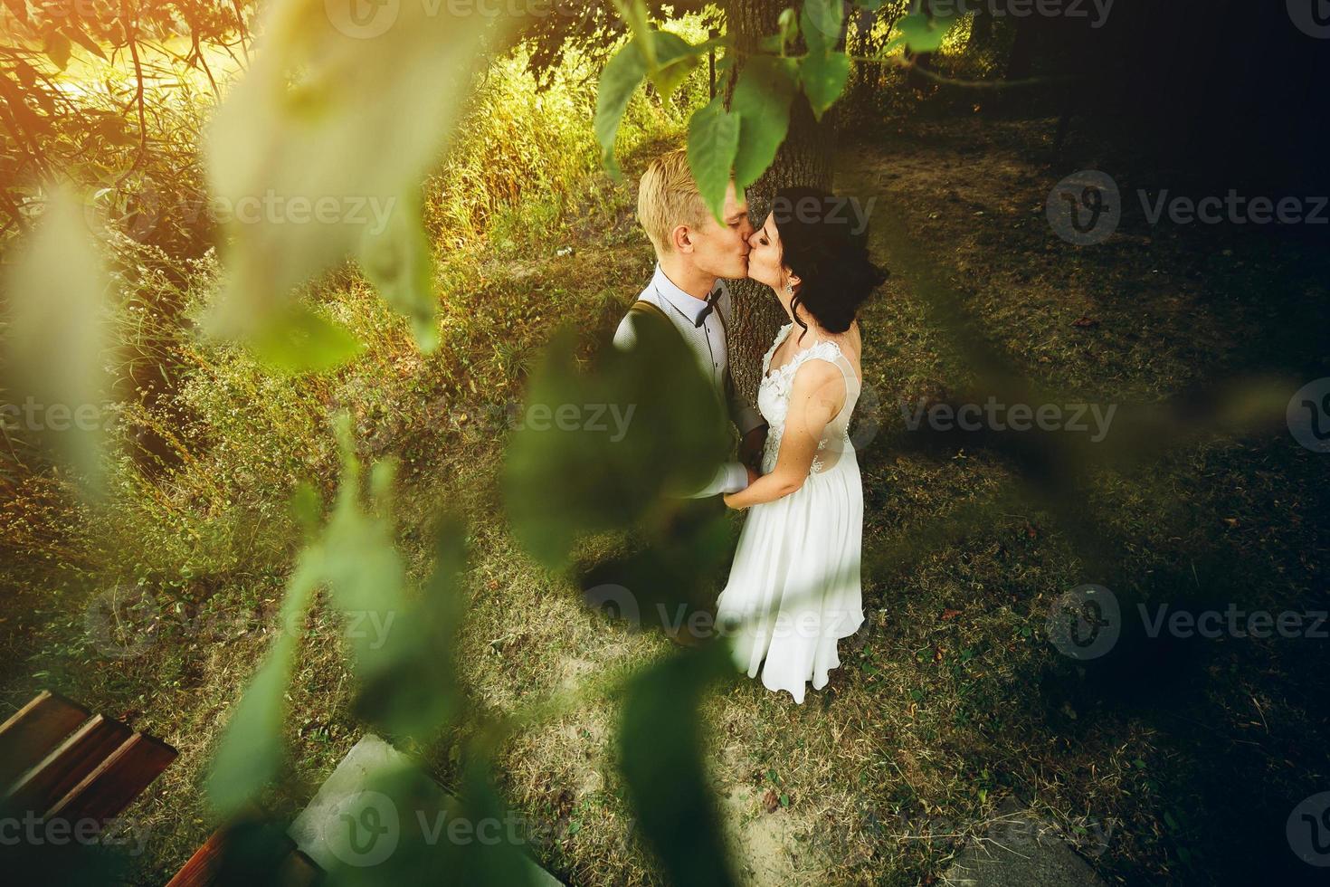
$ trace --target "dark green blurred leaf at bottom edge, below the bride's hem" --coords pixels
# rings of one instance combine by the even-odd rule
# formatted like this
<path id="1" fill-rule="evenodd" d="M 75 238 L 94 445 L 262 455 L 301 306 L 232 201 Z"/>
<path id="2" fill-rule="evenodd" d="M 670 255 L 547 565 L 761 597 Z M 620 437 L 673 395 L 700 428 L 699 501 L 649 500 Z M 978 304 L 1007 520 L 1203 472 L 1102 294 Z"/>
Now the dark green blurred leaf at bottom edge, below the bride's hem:
<path id="1" fill-rule="evenodd" d="M 728 650 L 710 644 L 653 665 L 632 680 L 624 702 L 620 769 L 641 834 L 673 884 L 734 883 L 698 717 L 704 690 L 733 668 Z"/>

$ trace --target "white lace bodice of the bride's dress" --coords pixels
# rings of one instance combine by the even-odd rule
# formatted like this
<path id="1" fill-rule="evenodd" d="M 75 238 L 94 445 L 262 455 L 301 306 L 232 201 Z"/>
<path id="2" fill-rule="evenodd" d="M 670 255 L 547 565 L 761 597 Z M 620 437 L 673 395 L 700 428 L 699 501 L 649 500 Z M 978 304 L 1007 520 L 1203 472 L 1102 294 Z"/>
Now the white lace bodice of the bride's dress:
<path id="1" fill-rule="evenodd" d="M 762 473 L 770 473 L 775 468 L 775 459 L 781 452 L 781 438 L 785 435 L 785 418 L 790 411 L 790 391 L 794 388 L 795 374 L 805 360 L 826 360 L 841 370 L 846 392 L 845 406 L 841 407 L 841 412 L 837 414 L 835 419 L 827 423 L 826 430 L 822 432 L 822 439 L 818 442 L 818 452 L 813 457 L 813 468 L 809 473 L 821 475 L 831 471 L 841 461 L 842 456 L 849 455 L 851 459 L 854 457 L 854 445 L 850 443 L 849 428 L 850 414 L 854 412 L 854 404 L 859 399 L 861 384 L 859 378 L 854 372 L 854 366 L 842 354 L 841 346 L 831 340 L 814 343 L 813 347 L 794 355 L 783 367 L 775 372 L 770 372 L 771 355 L 781 347 L 786 336 L 790 335 L 791 328 L 794 328 L 793 323 L 786 323 L 781 327 L 781 331 L 775 334 L 771 347 L 767 348 L 766 355 L 762 358 L 762 383 L 757 390 L 757 408 L 769 424 L 766 449 L 762 452 Z"/>

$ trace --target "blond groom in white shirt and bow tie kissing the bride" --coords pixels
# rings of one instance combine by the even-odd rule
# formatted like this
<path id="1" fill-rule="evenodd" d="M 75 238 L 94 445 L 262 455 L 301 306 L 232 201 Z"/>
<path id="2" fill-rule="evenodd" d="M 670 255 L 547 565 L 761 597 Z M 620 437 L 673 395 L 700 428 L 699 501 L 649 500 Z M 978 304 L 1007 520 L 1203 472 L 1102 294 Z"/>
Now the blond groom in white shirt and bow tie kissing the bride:
<path id="1" fill-rule="evenodd" d="M 733 318 L 729 287 L 721 278 L 747 277 L 747 203 L 730 182 L 724 223 L 706 209 L 688 166 L 688 153 L 674 150 L 650 162 L 637 191 L 637 221 L 656 247 L 656 274 L 637 297 L 614 332 L 614 346 L 636 342 L 633 323 L 652 315 L 668 320 L 697 358 L 716 396 L 739 430 L 739 461 L 722 464 L 712 480 L 689 499 L 743 489 L 755 477 L 766 442 L 766 423 L 734 390 L 726 354 Z"/>

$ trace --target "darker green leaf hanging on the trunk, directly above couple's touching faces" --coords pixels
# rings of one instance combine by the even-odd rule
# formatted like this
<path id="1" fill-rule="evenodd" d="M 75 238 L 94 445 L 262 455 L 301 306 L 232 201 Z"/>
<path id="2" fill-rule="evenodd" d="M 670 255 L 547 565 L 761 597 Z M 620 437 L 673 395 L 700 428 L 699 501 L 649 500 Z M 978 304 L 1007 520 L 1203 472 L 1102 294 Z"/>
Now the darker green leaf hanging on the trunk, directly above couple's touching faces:
<path id="1" fill-rule="evenodd" d="M 739 146 L 734 158 L 734 185 L 742 191 L 775 160 L 790 129 L 790 102 L 798 86 L 793 59 L 753 56 L 739 73 L 730 113 L 739 118 Z"/>

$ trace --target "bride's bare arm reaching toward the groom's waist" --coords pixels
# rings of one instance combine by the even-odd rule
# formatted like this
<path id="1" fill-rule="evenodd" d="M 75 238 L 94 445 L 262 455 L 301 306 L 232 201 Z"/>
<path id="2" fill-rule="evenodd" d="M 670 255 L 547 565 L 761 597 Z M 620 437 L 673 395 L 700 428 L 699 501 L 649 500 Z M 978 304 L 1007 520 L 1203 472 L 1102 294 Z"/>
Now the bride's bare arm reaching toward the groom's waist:
<path id="1" fill-rule="evenodd" d="M 845 400 L 845 379 L 835 364 L 805 360 L 794 374 L 790 408 L 785 416 L 781 452 L 770 475 L 762 475 L 747 488 L 730 493 L 730 508 L 750 508 L 789 496 L 803 485 L 818 455 L 818 442 L 827 423 L 835 418 Z"/>

